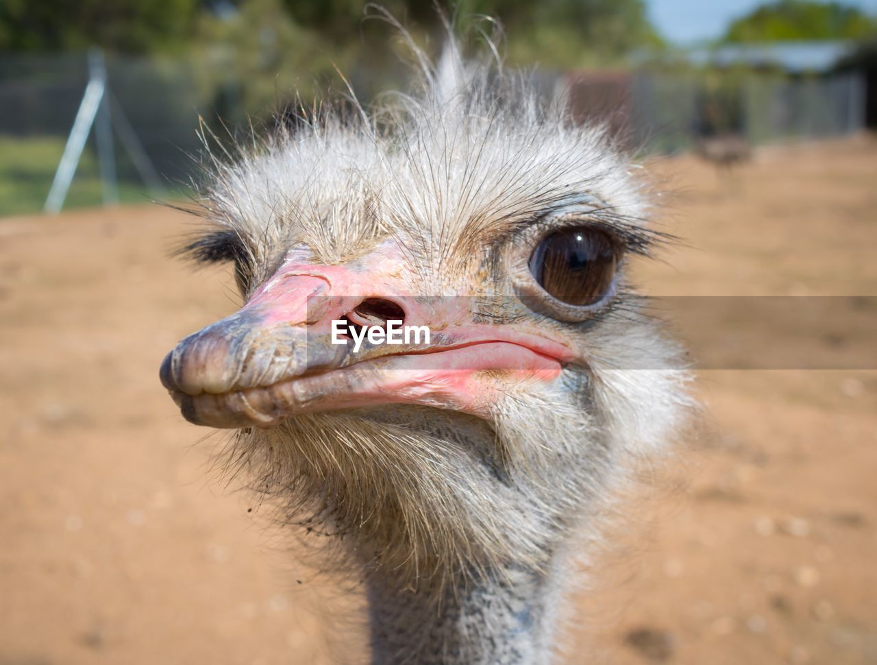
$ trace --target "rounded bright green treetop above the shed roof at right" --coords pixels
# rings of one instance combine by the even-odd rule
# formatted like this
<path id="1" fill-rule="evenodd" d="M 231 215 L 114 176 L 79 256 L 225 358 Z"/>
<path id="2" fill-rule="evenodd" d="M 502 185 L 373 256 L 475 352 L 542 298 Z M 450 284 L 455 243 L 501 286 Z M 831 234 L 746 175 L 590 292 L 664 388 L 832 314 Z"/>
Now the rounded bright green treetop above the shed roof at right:
<path id="1" fill-rule="evenodd" d="M 786 39 L 863 39 L 877 32 L 877 21 L 856 7 L 838 2 L 780 0 L 731 23 L 724 41 Z"/>

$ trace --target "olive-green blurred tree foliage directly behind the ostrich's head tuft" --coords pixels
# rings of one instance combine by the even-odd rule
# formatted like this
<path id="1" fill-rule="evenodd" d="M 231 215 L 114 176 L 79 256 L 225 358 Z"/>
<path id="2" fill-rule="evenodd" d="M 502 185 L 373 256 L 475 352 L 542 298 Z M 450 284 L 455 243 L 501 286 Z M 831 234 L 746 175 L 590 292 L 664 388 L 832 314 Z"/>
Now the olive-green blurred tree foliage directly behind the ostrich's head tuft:
<path id="1" fill-rule="evenodd" d="M 235 11 L 204 12 L 192 39 L 194 61 L 202 65 L 203 80 L 220 89 L 219 115 L 241 121 L 239 111 L 232 111 L 238 109 L 263 116 L 292 101 L 290 90 L 307 101 L 326 82 L 343 90 L 336 67 L 365 99 L 403 85 L 409 73 L 388 43 L 395 30 L 363 20 L 367 2 L 239 0 Z M 428 52 L 438 54 L 446 34 L 434 4 L 381 0 L 381 5 Z M 463 32 L 478 16 L 498 19 L 509 39 L 501 48 L 514 64 L 572 68 L 612 62 L 660 40 L 642 0 L 439 0 L 439 6 Z M 468 33 L 477 39 L 474 31 Z"/>

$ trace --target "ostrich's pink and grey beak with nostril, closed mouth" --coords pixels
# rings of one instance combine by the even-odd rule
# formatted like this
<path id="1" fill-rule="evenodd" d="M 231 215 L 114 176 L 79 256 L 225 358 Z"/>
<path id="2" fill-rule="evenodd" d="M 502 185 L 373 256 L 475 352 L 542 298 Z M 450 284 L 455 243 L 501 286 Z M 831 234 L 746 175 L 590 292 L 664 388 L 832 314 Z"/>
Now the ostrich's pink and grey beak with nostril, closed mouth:
<path id="1" fill-rule="evenodd" d="M 553 381 L 573 354 L 516 324 L 474 320 L 468 297 L 405 293 L 403 261 L 387 245 L 346 266 L 294 256 L 231 317 L 189 335 L 165 358 L 161 380 L 197 425 L 271 427 L 296 413 L 424 404 L 487 418 L 499 390 Z M 392 294 L 392 295 L 389 295 Z M 332 320 L 357 322 L 366 298 L 426 325 L 429 344 L 332 345 Z"/>

